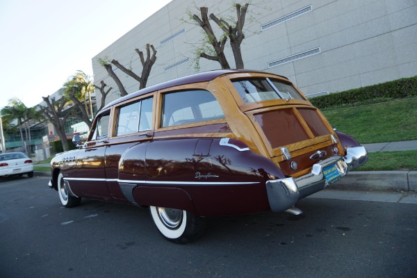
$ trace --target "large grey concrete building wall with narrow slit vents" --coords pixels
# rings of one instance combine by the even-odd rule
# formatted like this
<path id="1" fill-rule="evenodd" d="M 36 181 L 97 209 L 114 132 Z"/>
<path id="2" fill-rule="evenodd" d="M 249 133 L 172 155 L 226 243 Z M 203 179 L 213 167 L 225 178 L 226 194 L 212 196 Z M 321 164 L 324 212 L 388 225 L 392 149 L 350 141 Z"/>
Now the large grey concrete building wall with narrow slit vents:
<path id="1" fill-rule="evenodd" d="M 140 75 L 135 49 L 144 51 L 149 43 L 158 52 L 148 86 L 195 73 L 193 51 L 203 35 L 190 23 L 187 10 L 199 15 L 200 6 L 218 17 L 236 17 L 230 1 L 173 0 L 92 58 L 95 84 L 104 80 L 113 87 L 106 103 L 119 92 L 99 58 L 114 58 Z M 417 74 L 417 0 L 254 0 L 248 11 L 241 46 L 245 68 L 287 76 L 306 95 Z M 231 49 L 226 54 L 234 67 Z M 199 71 L 218 68 L 200 59 Z M 127 92 L 138 90 L 137 81 L 113 69 Z M 97 102 L 100 97 L 97 92 Z"/>

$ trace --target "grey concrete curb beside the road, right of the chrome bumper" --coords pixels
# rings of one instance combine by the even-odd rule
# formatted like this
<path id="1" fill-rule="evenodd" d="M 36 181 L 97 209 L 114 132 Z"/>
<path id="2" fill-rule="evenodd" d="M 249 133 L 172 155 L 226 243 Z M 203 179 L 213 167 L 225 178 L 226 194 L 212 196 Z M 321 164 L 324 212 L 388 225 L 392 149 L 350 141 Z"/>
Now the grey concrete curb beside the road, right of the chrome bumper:
<path id="1" fill-rule="evenodd" d="M 417 171 L 349 172 L 334 188 L 358 190 L 417 190 Z"/>

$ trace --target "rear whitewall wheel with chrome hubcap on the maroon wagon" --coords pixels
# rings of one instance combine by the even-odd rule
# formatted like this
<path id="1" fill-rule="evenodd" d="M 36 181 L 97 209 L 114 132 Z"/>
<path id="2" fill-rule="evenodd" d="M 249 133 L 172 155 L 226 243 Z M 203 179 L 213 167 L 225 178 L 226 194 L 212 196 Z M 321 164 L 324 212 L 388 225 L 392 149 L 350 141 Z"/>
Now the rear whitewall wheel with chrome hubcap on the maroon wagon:
<path id="1" fill-rule="evenodd" d="M 159 232 L 174 243 L 190 243 L 202 235 L 204 218 L 176 208 L 150 206 L 152 220 Z"/>

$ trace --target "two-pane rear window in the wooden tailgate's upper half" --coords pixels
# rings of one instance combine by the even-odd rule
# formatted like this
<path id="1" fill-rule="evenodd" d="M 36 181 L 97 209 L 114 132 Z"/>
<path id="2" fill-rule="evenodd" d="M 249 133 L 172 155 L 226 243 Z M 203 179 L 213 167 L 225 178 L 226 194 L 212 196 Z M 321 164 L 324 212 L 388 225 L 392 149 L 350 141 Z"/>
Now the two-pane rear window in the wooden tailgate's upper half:
<path id="1" fill-rule="evenodd" d="M 232 83 L 245 103 L 274 99 L 304 99 L 292 85 L 276 79 L 240 79 Z"/>

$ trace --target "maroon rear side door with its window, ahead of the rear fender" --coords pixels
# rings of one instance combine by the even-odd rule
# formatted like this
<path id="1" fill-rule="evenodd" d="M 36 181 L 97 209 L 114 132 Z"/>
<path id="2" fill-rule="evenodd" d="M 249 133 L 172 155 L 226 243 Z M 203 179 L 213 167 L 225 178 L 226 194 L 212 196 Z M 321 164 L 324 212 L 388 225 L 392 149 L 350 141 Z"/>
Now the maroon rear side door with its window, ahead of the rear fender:
<path id="1" fill-rule="evenodd" d="M 115 107 L 115 130 L 106 148 L 106 177 L 111 197 L 132 202 L 132 185 L 145 181 L 145 153 L 154 137 L 154 95 Z M 138 181 L 131 183 L 130 181 Z"/>

